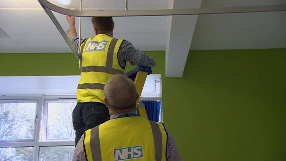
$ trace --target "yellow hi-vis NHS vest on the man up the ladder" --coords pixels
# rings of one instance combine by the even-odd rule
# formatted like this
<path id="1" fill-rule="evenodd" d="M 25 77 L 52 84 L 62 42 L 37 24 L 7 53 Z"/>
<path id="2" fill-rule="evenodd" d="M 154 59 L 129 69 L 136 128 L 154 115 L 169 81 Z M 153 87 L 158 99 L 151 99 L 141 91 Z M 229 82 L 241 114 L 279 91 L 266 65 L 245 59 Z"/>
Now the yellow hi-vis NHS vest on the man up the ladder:
<path id="1" fill-rule="evenodd" d="M 117 58 L 121 43 L 122 39 L 102 33 L 81 44 L 81 78 L 77 87 L 77 102 L 103 103 L 104 85 L 114 74 L 124 74 Z"/>

